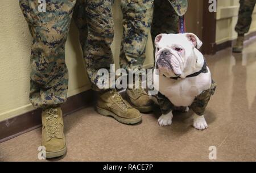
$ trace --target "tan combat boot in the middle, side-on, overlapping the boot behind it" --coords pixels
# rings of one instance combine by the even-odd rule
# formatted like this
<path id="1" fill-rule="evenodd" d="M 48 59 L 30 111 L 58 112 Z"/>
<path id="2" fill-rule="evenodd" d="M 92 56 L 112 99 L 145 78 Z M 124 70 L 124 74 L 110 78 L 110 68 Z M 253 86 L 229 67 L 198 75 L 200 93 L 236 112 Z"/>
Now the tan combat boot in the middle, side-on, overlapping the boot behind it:
<path id="1" fill-rule="evenodd" d="M 112 116 L 123 124 L 137 124 L 141 122 L 141 113 L 123 100 L 117 90 L 106 91 L 100 95 L 97 112 L 104 116 Z"/>

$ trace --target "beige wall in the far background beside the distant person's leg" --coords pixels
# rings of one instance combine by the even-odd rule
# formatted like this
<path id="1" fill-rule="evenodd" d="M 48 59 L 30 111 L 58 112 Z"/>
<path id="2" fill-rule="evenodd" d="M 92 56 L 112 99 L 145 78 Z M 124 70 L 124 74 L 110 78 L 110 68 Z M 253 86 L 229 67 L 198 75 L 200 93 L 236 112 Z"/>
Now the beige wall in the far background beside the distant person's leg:
<path id="1" fill-rule="evenodd" d="M 239 0 L 218 1 L 217 24 L 216 24 L 216 43 L 221 44 L 225 41 L 236 39 L 237 33 L 234 31 L 238 19 Z M 256 8 L 253 14 L 253 23 L 250 32 L 256 31 Z"/>

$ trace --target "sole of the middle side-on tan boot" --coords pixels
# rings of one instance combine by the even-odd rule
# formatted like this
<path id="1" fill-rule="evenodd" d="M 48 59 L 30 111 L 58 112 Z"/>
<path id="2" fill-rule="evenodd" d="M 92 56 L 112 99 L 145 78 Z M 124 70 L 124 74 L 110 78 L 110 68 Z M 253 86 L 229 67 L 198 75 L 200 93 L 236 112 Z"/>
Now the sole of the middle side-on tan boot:
<path id="1" fill-rule="evenodd" d="M 117 120 L 118 122 L 123 123 L 123 124 L 137 124 L 137 123 L 142 121 L 142 117 L 141 116 L 137 117 L 135 119 L 125 119 L 125 118 L 119 117 L 115 113 L 110 112 L 110 111 L 108 111 L 106 109 L 102 109 L 102 108 L 99 108 L 99 107 L 96 107 L 96 108 L 97 108 L 97 112 L 100 113 L 100 115 L 111 116 L 115 120 Z"/>

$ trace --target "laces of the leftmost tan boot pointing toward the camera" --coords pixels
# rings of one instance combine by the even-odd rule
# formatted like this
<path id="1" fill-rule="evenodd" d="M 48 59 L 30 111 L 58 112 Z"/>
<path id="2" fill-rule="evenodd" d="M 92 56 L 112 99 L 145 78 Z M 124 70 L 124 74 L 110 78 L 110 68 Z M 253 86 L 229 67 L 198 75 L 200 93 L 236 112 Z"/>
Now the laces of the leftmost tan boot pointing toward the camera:
<path id="1" fill-rule="evenodd" d="M 46 117 L 47 137 L 53 138 L 59 136 L 59 123 L 57 121 L 57 109 L 49 109 L 48 117 Z"/>

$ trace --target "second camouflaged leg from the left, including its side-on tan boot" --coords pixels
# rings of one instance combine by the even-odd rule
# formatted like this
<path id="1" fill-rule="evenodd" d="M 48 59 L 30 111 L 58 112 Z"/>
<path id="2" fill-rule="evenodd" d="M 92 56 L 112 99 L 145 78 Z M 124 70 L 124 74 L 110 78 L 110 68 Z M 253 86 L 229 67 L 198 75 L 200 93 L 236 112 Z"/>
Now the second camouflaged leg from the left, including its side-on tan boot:
<path id="1" fill-rule="evenodd" d="M 79 5 L 80 3 L 83 5 Z M 88 77 L 93 90 L 98 91 L 100 95 L 97 112 L 112 116 L 121 123 L 136 124 L 142 120 L 138 110 L 123 100 L 117 90 L 102 90 L 98 87 L 101 78 L 101 75 L 97 74 L 98 70 L 104 68 L 110 71 L 110 65 L 114 64 L 110 49 L 114 37 L 112 7 L 113 0 L 80 0 L 74 18 L 80 30 L 80 42 Z"/>

